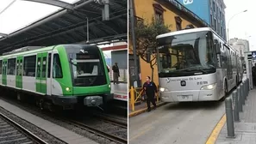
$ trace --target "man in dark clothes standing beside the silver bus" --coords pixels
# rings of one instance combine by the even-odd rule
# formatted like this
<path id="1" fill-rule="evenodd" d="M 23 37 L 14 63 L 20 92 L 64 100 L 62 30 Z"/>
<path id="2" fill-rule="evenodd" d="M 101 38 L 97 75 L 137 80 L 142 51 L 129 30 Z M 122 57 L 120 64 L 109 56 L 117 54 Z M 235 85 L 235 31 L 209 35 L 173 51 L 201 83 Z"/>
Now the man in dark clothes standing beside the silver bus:
<path id="1" fill-rule="evenodd" d="M 155 93 L 157 93 L 157 87 L 154 84 L 153 81 L 150 81 L 150 77 L 147 76 L 146 78 L 146 82 L 143 84 L 143 91 L 146 93 L 146 99 L 147 99 L 147 111 L 151 111 L 151 107 L 150 107 L 150 102 L 153 104 L 153 109 L 156 109 L 156 104 L 155 104 Z"/>

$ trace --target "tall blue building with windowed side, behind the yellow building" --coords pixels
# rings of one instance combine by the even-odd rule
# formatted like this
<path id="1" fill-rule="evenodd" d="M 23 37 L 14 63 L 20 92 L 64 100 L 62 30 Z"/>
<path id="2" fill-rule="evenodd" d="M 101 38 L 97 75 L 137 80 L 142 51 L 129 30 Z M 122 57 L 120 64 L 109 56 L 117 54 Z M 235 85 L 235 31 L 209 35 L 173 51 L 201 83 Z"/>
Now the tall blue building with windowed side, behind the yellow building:
<path id="1" fill-rule="evenodd" d="M 178 0 L 203 21 L 207 22 L 216 33 L 227 40 L 225 9 L 223 0 Z"/>

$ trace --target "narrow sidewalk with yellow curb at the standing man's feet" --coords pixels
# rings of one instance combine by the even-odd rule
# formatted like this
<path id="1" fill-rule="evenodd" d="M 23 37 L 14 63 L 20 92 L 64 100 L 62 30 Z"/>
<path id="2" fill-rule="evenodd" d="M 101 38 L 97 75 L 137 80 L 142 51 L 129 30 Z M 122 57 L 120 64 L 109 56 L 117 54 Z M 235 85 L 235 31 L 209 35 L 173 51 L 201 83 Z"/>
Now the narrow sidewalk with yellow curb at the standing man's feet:
<path id="1" fill-rule="evenodd" d="M 157 107 L 165 105 L 166 103 L 161 102 L 159 100 L 159 103 L 156 102 Z M 151 107 L 153 108 L 153 105 L 151 104 Z M 134 117 L 137 115 L 140 115 L 141 113 L 144 113 L 147 111 L 147 103 L 146 102 L 140 102 L 140 105 L 134 105 L 134 111 L 132 111 L 132 106 L 129 105 L 129 117 Z"/>

